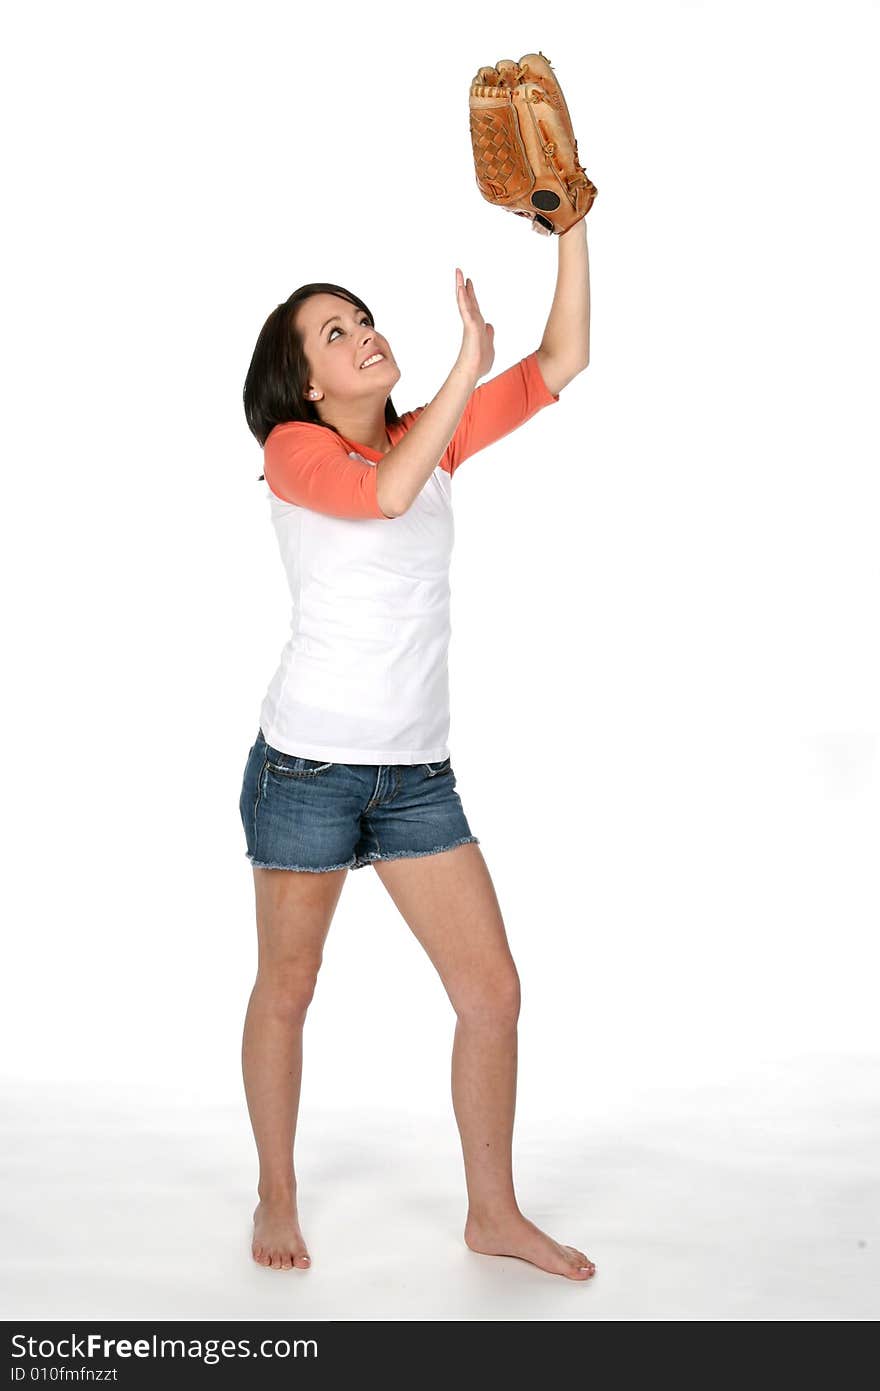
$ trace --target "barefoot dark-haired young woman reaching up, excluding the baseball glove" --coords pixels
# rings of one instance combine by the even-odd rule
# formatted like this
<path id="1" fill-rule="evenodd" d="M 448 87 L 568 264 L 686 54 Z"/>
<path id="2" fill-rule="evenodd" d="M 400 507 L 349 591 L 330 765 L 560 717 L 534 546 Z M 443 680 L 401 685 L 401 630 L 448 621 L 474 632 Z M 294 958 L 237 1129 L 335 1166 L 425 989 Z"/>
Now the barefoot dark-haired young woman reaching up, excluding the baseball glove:
<path id="1" fill-rule="evenodd" d="M 403 416 L 391 345 L 339 285 L 304 285 L 270 314 L 245 383 L 293 600 L 241 794 L 259 942 L 242 1046 L 260 1159 L 252 1255 L 310 1264 L 293 1171 L 303 1022 L 346 875 L 371 864 L 456 1011 L 467 1246 L 588 1280 L 594 1263 L 514 1195 L 520 981 L 446 743 L 452 479 L 587 367 L 585 221 L 559 236 L 539 348 L 481 387 L 494 328 L 457 268 L 456 299 L 459 356 Z"/>

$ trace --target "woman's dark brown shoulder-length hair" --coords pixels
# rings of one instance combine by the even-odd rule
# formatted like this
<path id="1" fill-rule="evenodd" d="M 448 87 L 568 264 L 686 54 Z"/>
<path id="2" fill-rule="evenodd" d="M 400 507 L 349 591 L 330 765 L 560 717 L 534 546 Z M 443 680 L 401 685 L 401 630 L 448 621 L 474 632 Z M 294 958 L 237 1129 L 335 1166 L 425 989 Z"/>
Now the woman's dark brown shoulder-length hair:
<path id="1" fill-rule="evenodd" d="M 298 307 L 310 295 L 339 295 L 363 310 L 374 325 L 373 314 L 363 299 L 342 285 L 324 281 L 300 285 L 282 305 L 272 309 L 260 330 L 243 391 L 247 427 L 260 445 L 264 445 L 275 426 L 284 424 L 285 420 L 304 420 L 339 434 L 335 426 L 321 420 L 317 408 L 306 396 L 309 363 L 295 320 Z M 385 424 L 396 424 L 399 419 L 389 396 L 385 402 Z M 264 474 L 260 474 L 257 483 L 263 477 Z"/>

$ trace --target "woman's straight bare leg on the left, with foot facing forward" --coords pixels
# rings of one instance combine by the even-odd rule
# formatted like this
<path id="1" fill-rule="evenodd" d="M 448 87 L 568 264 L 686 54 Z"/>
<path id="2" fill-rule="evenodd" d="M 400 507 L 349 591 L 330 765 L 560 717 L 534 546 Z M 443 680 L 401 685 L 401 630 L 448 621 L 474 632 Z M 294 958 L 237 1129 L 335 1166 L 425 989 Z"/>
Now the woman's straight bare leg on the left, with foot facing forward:
<path id="1" fill-rule="evenodd" d="M 242 1072 L 260 1157 L 252 1255 L 274 1270 L 309 1269 L 299 1227 L 293 1141 L 303 1071 L 303 1024 L 348 869 L 253 869 L 257 978 Z"/>

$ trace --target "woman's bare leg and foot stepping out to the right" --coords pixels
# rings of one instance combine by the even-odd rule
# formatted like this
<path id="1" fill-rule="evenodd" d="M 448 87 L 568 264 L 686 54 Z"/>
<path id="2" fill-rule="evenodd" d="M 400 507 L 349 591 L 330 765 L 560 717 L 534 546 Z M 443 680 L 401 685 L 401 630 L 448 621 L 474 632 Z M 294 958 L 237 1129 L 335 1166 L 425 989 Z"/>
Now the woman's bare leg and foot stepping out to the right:
<path id="1" fill-rule="evenodd" d="M 474 843 L 373 865 L 437 967 L 456 1011 L 452 1100 L 467 1184 L 464 1241 L 588 1280 L 595 1264 L 530 1221 L 513 1189 L 520 979 L 495 886 Z"/>

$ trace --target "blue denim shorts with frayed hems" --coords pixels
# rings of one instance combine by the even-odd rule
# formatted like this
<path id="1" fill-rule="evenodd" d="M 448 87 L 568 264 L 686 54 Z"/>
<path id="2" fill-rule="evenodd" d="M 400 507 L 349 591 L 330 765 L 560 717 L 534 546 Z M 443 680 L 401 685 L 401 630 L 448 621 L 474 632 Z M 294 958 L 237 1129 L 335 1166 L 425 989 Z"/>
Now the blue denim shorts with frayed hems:
<path id="1" fill-rule="evenodd" d="M 478 844 L 455 789 L 449 758 L 327 764 L 282 754 L 260 729 L 239 798 L 247 858 L 263 869 L 320 872 Z"/>

